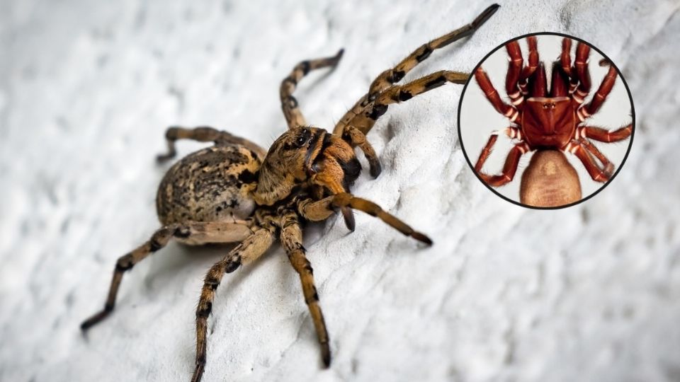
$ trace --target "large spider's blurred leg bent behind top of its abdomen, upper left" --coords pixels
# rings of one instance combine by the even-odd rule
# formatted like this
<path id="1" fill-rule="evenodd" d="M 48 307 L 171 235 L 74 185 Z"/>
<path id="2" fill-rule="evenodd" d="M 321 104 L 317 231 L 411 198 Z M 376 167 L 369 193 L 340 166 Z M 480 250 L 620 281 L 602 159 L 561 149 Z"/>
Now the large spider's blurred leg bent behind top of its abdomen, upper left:
<path id="1" fill-rule="evenodd" d="M 217 145 L 238 144 L 254 151 L 260 159 L 264 158 L 267 154 L 265 149 L 262 149 L 259 145 L 254 144 L 248 139 L 237 137 L 208 126 L 194 127 L 193 129 L 171 126 L 165 132 L 165 139 L 168 142 L 168 152 L 156 157 L 159 162 L 167 161 L 176 156 L 175 141 L 178 139 L 193 139 L 199 142 L 213 141 Z"/>

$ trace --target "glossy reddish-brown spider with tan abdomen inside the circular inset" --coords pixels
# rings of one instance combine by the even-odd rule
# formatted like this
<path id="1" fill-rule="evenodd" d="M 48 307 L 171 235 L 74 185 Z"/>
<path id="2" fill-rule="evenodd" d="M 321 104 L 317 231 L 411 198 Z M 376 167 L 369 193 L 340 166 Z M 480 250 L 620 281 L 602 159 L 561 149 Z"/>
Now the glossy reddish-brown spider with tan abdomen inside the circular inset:
<path id="1" fill-rule="evenodd" d="M 584 103 L 591 91 L 589 55 L 591 48 L 579 42 L 574 64 L 571 64 L 572 40 L 562 39 L 562 50 L 552 65 L 552 79 L 548 89 L 545 66 L 538 59 L 536 36 L 526 37 L 528 64 L 523 57 L 518 40 L 507 42 L 509 55 L 505 91 L 511 104 L 504 102 L 480 66 L 475 80 L 497 112 L 507 117 L 511 126 L 492 133 L 481 151 L 475 173 L 492 187 L 513 180 L 523 154 L 536 151 L 522 175 L 520 201 L 536 207 L 559 207 L 581 199 L 581 187 L 576 170 L 562 152 L 574 154 L 583 163 L 596 182 L 604 183 L 613 175 L 614 166 L 589 139 L 611 143 L 630 137 L 633 123 L 613 131 L 588 125 L 588 118 L 600 109 L 616 82 L 616 68 L 608 66 L 599 88 L 589 103 Z M 514 139 L 514 146 L 506 156 L 499 175 L 482 171 L 499 134 Z"/>

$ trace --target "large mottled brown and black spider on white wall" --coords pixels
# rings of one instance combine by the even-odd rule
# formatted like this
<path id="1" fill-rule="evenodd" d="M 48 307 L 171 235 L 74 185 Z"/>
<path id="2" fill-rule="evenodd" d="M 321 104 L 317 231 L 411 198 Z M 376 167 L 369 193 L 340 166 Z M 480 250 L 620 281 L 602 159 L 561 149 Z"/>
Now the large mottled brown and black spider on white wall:
<path id="1" fill-rule="evenodd" d="M 385 114 L 388 105 L 417 96 L 446 82 L 463 84 L 469 77 L 456 71 L 437 71 L 404 85 L 395 85 L 433 50 L 471 35 L 499 6 L 483 11 L 475 21 L 422 45 L 394 68 L 383 71 L 370 89 L 337 123 L 334 132 L 310 127 L 297 107 L 293 91 L 298 81 L 314 69 L 334 68 L 343 50 L 334 57 L 297 64 L 280 85 L 283 115 L 288 131 L 268 151 L 246 139 L 212 127 L 169 127 L 167 161 L 176 156 L 178 139 L 213 142 L 214 146 L 189 154 L 172 166 L 162 179 L 156 207 L 159 228 L 147 241 L 115 263 L 111 287 L 102 311 L 81 324 L 82 330 L 106 318 L 115 306 L 123 274 L 171 239 L 189 245 L 238 243 L 205 275 L 196 309 L 196 369 L 192 381 L 200 381 L 206 359 L 206 331 L 215 291 L 225 273 L 257 260 L 278 239 L 291 265 L 300 276 L 302 294 L 312 316 L 321 346 L 322 361 L 331 362 L 329 336 L 319 296 L 314 287 L 312 265 L 302 246 L 302 224 L 324 221 L 340 209 L 353 231 L 351 209 L 378 217 L 397 231 L 431 245 L 430 238 L 415 231 L 378 204 L 351 195 L 350 187 L 361 171 L 354 148 L 368 159 L 370 174 L 380 174 L 380 161 L 365 134 Z"/>

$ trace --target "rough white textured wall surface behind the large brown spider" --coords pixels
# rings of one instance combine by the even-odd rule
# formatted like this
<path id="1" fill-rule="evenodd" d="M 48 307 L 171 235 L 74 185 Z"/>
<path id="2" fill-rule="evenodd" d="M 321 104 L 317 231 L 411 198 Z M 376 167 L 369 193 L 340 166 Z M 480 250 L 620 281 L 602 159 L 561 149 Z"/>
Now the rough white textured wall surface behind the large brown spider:
<path id="1" fill-rule="evenodd" d="M 194 3 L 1 2 L 0 380 L 188 380 L 202 277 L 224 249 L 169 245 L 125 277 L 113 316 L 87 337 L 78 329 L 115 259 L 158 226 L 164 128 L 214 125 L 266 146 L 285 129 L 280 80 L 345 47 L 333 73 L 296 93 L 307 120 L 330 128 L 373 76 L 487 5 Z M 523 209 L 465 163 L 460 86 L 390 108 L 368 136 L 383 173 L 353 191 L 435 245 L 365 214 L 352 234 L 339 217 L 307 230 L 329 370 L 278 246 L 227 275 L 205 381 L 678 381 L 678 8 L 504 1 L 471 39 L 433 54 L 408 78 L 470 70 L 523 33 L 589 40 L 635 100 L 625 168 L 577 207 Z"/>

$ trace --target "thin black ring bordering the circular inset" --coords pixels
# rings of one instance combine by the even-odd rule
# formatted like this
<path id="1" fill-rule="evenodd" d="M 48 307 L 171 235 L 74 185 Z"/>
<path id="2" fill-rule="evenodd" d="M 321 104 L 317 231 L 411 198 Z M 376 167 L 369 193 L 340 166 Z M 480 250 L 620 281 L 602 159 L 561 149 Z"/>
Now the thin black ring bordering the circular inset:
<path id="1" fill-rule="evenodd" d="M 614 66 L 614 69 L 616 69 L 616 74 L 618 74 L 619 78 L 621 78 L 621 82 L 623 82 L 623 86 L 625 87 L 625 91 L 628 93 L 628 99 L 630 100 L 630 116 L 631 116 L 632 119 L 633 119 L 633 122 L 632 122 L 632 123 L 633 123 L 633 131 L 630 133 L 630 141 L 628 142 L 628 150 L 625 151 L 625 156 L 623 156 L 623 160 L 622 160 L 621 163 L 618 165 L 618 168 L 616 169 L 616 171 L 614 172 L 614 174 L 611 175 L 611 178 L 609 178 L 609 180 L 607 180 L 607 182 L 606 182 L 604 185 L 602 185 L 601 187 L 599 187 L 596 191 L 592 192 L 592 193 L 591 193 L 590 195 L 588 195 L 587 197 L 584 197 L 584 198 L 582 198 L 582 199 L 579 199 L 579 200 L 577 200 L 576 202 L 573 202 L 573 203 L 570 203 L 570 204 L 564 204 L 564 205 L 562 205 L 562 206 L 557 206 L 557 207 L 538 207 L 538 206 L 531 206 L 531 205 L 528 205 L 528 204 L 522 204 L 521 202 L 518 202 L 518 201 L 516 201 L 516 200 L 510 199 L 509 197 L 506 197 L 505 195 L 502 195 L 502 194 L 501 194 L 500 192 L 498 192 L 497 190 L 494 190 L 494 188 L 491 187 L 490 185 L 488 185 L 484 180 L 482 180 L 482 178 L 480 178 L 480 175 L 477 174 L 477 172 L 475 171 L 475 166 L 472 165 L 472 162 L 470 161 L 470 157 L 467 156 L 467 151 L 465 150 L 465 144 L 463 144 L 463 139 L 462 139 L 463 135 L 460 134 L 460 109 L 463 107 L 463 99 L 465 98 L 465 92 L 467 91 L 467 85 L 469 85 L 469 84 L 470 84 L 470 81 L 472 81 L 472 78 L 474 77 L 475 71 L 477 71 L 477 69 L 478 69 L 480 66 L 482 66 L 482 64 L 489 58 L 489 56 L 491 56 L 491 55 L 494 54 L 497 50 L 499 50 L 499 49 L 501 49 L 502 47 L 504 47 L 508 42 L 515 41 L 515 40 L 521 40 L 521 39 L 526 38 L 526 37 L 538 36 L 538 35 L 553 35 L 553 36 L 567 37 L 567 38 L 570 38 L 570 39 L 575 40 L 575 41 L 578 41 L 578 42 L 583 42 L 584 44 L 587 44 L 589 47 L 591 47 L 591 49 L 594 49 L 596 52 L 598 52 L 599 54 L 601 54 L 602 57 L 604 57 L 605 59 L 607 59 L 608 62 L 610 62 L 611 65 Z M 575 206 L 575 205 L 577 205 L 577 204 L 581 204 L 582 202 L 586 202 L 586 201 L 587 201 L 588 199 L 590 199 L 591 197 L 594 197 L 595 195 L 599 194 L 599 192 L 601 192 L 601 191 L 604 190 L 608 185 L 610 185 L 611 182 L 614 180 L 614 178 L 616 178 L 616 175 L 618 175 L 618 173 L 619 173 L 619 172 L 621 171 L 621 169 L 623 168 L 623 165 L 625 164 L 625 161 L 628 159 L 628 154 L 630 154 L 630 149 L 633 148 L 633 139 L 635 139 L 635 126 L 637 125 L 637 123 L 636 123 L 637 121 L 635 120 L 635 105 L 634 105 L 634 103 L 633 103 L 633 94 L 630 93 L 630 88 L 628 87 L 628 82 L 625 81 L 625 78 L 623 77 L 623 74 L 621 74 L 621 70 L 618 69 L 618 66 L 616 66 L 616 64 L 615 64 L 615 63 L 614 63 L 614 62 L 613 62 L 606 54 L 604 54 L 604 52 L 602 52 L 601 50 L 599 50 L 597 47 L 595 47 L 594 45 L 592 45 L 590 42 L 587 42 L 586 40 L 583 40 L 583 39 L 581 39 L 581 38 L 579 38 L 579 37 L 574 37 L 574 36 L 572 36 L 572 35 L 567 35 L 567 34 L 565 34 L 565 33 L 558 33 L 558 32 L 535 32 L 535 33 L 527 33 L 526 35 L 521 35 L 521 36 L 518 36 L 518 37 L 513 37 L 513 38 L 511 38 L 511 39 L 509 39 L 509 40 L 506 40 L 506 41 L 503 42 L 502 44 L 498 45 L 497 47 L 495 47 L 494 49 L 492 49 L 489 53 L 487 53 L 484 57 L 482 57 L 482 59 L 480 60 L 480 62 L 479 62 L 477 65 L 475 65 L 475 69 L 472 69 L 472 71 L 470 72 L 470 77 L 468 77 L 467 81 L 465 82 L 465 86 L 463 86 L 463 91 L 460 93 L 460 100 L 458 101 L 458 118 L 457 118 L 457 119 L 458 119 L 458 141 L 460 142 L 460 149 L 463 150 L 463 156 L 465 156 L 465 161 L 467 161 L 467 165 L 470 166 L 470 170 L 472 170 L 472 173 L 475 174 L 475 176 L 477 177 L 477 179 L 480 180 L 480 182 L 481 182 L 483 185 L 485 185 L 489 190 L 491 190 L 492 192 L 494 192 L 494 194 L 496 194 L 497 196 L 501 197 L 502 199 L 505 199 L 505 200 L 508 201 L 508 202 L 511 202 L 512 204 L 516 204 L 516 205 L 518 205 L 518 206 L 520 206 L 520 207 L 524 207 L 524 208 L 528 208 L 528 209 L 544 209 L 544 210 L 545 210 L 545 209 L 547 209 L 547 210 L 551 210 L 551 209 L 564 209 L 564 208 L 569 208 L 569 207 Z"/>

